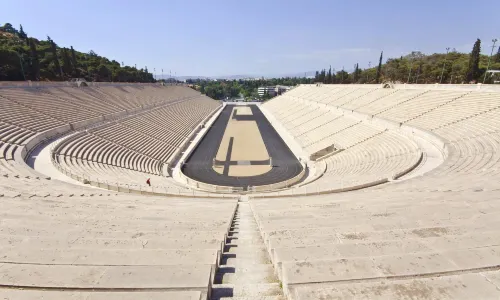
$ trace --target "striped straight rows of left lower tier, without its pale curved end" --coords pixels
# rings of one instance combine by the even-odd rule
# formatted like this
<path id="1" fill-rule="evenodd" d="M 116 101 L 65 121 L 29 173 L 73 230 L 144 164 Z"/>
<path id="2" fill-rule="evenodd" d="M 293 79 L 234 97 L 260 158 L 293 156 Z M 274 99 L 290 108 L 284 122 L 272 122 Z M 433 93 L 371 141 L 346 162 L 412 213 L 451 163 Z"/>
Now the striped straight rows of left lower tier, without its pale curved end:
<path id="1" fill-rule="evenodd" d="M 170 161 L 189 133 L 218 105 L 200 97 L 159 107 L 89 130 L 67 142 L 60 154 L 161 175 L 163 164 Z"/>

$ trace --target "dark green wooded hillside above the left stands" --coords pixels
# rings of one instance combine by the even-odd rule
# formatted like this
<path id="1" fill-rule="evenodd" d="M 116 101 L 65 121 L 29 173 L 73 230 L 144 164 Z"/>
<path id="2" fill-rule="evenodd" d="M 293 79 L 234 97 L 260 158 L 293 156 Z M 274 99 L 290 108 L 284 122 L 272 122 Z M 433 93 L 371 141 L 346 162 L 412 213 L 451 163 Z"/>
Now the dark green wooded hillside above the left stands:
<path id="1" fill-rule="evenodd" d="M 24 76 L 23 76 L 24 74 Z M 21 27 L 0 26 L 0 80 L 60 81 L 83 77 L 87 81 L 153 82 L 147 69 L 121 66 L 115 60 L 73 47 L 60 48 L 49 36 L 47 40 L 29 38 Z"/>

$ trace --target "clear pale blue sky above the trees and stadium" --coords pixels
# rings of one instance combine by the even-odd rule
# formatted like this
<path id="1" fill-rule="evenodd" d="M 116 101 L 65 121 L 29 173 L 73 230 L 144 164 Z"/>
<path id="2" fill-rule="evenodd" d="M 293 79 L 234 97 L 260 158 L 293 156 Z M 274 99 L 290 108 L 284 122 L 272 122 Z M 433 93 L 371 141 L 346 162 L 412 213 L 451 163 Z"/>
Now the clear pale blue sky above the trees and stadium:
<path id="1" fill-rule="evenodd" d="M 70 4 L 73 3 L 73 4 Z M 407 54 L 482 51 L 500 39 L 496 0 L 0 0 L 0 23 L 125 64 L 177 75 L 352 69 Z"/>

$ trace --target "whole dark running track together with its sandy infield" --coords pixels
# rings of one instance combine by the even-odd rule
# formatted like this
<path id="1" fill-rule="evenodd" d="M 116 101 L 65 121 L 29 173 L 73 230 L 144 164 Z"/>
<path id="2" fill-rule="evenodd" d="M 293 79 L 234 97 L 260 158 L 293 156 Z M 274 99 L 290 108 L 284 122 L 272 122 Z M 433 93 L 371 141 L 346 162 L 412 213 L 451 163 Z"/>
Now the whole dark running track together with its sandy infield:
<path id="1" fill-rule="evenodd" d="M 193 180 L 190 185 L 201 189 L 207 185 L 260 191 L 292 185 L 305 168 L 258 106 L 227 105 L 182 172 Z"/>

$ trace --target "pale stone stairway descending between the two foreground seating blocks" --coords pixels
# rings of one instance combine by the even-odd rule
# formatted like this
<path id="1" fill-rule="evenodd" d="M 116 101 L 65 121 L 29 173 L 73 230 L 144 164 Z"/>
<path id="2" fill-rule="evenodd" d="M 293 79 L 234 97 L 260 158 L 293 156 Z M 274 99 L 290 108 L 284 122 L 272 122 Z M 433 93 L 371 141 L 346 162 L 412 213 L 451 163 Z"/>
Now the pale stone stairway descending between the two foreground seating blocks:
<path id="1" fill-rule="evenodd" d="M 248 202 L 238 203 L 215 275 L 212 300 L 219 299 L 285 299 Z"/>

